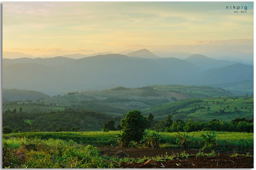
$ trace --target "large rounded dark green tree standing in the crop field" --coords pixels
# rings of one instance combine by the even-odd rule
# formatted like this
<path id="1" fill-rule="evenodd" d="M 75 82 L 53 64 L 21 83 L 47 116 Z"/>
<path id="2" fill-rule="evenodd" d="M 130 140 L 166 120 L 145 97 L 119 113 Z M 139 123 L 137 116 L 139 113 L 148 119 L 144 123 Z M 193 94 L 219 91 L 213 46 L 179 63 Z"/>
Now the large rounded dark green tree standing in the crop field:
<path id="1" fill-rule="evenodd" d="M 129 111 L 124 119 L 121 119 L 121 127 L 123 132 L 127 136 L 127 140 L 140 142 L 144 131 L 149 127 L 149 122 L 146 117 L 142 116 L 140 111 Z"/>

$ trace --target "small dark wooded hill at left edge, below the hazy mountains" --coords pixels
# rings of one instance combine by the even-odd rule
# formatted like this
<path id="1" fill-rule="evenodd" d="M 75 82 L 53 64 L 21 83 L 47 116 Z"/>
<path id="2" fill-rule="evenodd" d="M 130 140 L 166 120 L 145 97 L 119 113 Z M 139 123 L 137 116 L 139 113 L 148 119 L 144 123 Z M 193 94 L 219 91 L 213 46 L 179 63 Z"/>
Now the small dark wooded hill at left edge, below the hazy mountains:
<path id="1" fill-rule="evenodd" d="M 50 97 L 49 95 L 46 95 L 39 91 L 19 90 L 19 89 L 3 89 L 2 94 L 3 94 L 3 99 L 8 101 L 26 101 L 27 99 L 36 100 L 36 99 L 42 99 L 42 98 L 46 99 Z"/>

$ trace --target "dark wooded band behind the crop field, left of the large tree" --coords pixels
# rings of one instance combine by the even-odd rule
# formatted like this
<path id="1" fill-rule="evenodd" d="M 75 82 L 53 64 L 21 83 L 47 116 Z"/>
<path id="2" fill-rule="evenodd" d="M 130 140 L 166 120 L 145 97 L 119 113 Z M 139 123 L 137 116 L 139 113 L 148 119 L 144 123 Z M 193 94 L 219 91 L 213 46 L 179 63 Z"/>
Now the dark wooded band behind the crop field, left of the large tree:
<path id="1" fill-rule="evenodd" d="M 3 113 L 3 133 L 26 131 L 91 131 L 101 130 L 113 117 L 93 111 Z M 120 119 L 120 118 L 119 118 Z"/>

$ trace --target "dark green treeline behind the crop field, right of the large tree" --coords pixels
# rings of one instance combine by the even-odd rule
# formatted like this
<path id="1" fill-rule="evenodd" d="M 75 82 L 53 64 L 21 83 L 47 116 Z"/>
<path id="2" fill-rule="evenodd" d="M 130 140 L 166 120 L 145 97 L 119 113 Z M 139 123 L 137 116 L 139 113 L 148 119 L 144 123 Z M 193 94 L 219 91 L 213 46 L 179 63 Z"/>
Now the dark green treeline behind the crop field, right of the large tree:
<path id="1" fill-rule="evenodd" d="M 228 131 L 228 132 L 253 132 L 252 119 L 236 118 L 231 122 L 223 122 L 213 119 L 208 122 L 192 122 L 191 119 L 185 123 L 182 120 L 172 121 L 172 115 L 168 115 L 166 121 L 159 121 L 154 130 L 164 132 L 195 132 L 202 130 Z"/>

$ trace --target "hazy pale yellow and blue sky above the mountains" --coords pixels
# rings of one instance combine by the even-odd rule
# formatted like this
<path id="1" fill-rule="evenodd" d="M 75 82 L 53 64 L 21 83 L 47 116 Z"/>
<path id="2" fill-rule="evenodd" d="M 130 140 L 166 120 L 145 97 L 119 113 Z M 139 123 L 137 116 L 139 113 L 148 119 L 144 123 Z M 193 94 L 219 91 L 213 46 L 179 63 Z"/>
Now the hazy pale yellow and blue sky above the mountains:
<path id="1" fill-rule="evenodd" d="M 234 13 L 226 6 L 247 6 Z M 253 52 L 253 2 L 3 2 L 3 51 Z"/>

